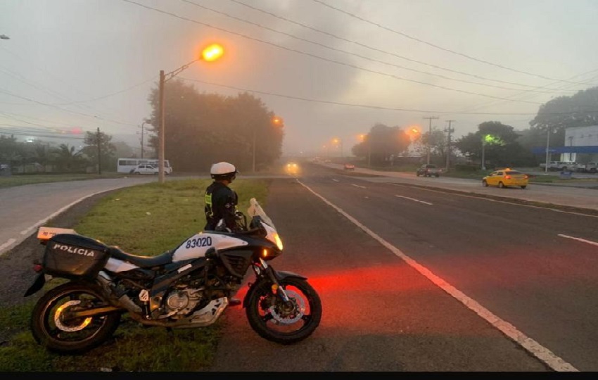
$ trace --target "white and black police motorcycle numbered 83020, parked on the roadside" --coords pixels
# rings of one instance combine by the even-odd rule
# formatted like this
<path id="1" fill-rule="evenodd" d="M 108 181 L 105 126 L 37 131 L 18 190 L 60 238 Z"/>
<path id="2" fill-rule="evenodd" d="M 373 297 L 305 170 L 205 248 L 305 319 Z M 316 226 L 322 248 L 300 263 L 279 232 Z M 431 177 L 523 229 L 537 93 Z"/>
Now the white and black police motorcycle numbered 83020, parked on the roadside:
<path id="1" fill-rule="evenodd" d="M 128 313 L 146 327 L 194 328 L 214 324 L 241 288 L 249 268 L 255 279 L 243 298 L 250 327 L 283 345 L 303 341 L 322 319 L 322 303 L 307 278 L 274 270 L 268 262 L 283 251 L 274 223 L 252 198 L 241 232 L 199 232 L 157 256 L 132 255 L 73 229 L 39 227 L 45 246 L 34 283 L 49 289 L 31 315 L 40 345 L 65 354 L 83 353 L 106 342 Z"/>

